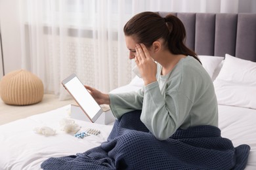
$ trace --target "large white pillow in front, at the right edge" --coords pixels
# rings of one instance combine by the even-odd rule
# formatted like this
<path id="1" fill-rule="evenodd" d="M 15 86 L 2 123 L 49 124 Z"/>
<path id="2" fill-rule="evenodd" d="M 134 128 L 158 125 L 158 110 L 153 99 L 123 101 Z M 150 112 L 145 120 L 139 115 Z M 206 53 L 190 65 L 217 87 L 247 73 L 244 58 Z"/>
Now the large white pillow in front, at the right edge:
<path id="1" fill-rule="evenodd" d="M 219 105 L 256 109 L 256 63 L 226 54 L 213 82 Z"/>

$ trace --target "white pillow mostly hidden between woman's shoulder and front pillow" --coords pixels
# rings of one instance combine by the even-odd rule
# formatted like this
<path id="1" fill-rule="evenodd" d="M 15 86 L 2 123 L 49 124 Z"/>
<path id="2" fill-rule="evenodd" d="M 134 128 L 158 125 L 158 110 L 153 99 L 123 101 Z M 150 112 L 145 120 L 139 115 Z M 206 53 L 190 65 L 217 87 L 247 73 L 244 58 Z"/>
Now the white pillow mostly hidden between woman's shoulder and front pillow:
<path id="1" fill-rule="evenodd" d="M 220 67 L 221 61 L 223 61 L 224 58 L 219 56 L 198 56 L 198 58 L 200 59 L 203 68 L 211 77 L 211 80 L 214 80 L 216 77 L 215 70 Z"/>

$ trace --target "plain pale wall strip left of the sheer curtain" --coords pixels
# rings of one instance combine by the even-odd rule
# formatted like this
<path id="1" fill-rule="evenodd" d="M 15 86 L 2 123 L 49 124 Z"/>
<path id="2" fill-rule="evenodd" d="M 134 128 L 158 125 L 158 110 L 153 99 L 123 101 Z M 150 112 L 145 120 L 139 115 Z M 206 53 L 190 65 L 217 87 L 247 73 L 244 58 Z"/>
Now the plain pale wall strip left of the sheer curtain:
<path id="1" fill-rule="evenodd" d="M 18 3 L 18 0 L 0 1 L 0 24 L 5 74 L 16 69 L 21 69 L 20 17 L 18 15 Z"/>

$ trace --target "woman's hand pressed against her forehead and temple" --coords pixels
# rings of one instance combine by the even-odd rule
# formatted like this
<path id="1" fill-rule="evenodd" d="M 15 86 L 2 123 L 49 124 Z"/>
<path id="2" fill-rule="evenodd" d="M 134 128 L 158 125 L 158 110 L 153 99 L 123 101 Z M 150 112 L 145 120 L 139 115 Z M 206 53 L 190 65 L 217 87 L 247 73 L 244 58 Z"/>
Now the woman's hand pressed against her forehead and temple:
<path id="1" fill-rule="evenodd" d="M 145 86 L 156 81 L 156 63 L 150 56 L 144 44 L 136 44 L 135 63 L 139 68 L 140 75 L 144 80 Z"/>

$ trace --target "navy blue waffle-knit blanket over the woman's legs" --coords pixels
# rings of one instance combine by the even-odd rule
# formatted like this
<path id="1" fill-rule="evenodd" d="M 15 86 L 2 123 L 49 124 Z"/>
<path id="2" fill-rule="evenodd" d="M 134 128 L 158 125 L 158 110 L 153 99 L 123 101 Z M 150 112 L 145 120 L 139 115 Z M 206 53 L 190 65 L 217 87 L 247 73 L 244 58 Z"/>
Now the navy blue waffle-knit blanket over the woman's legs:
<path id="1" fill-rule="evenodd" d="M 234 148 L 213 126 L 178 129 L 159 141 L 140 122 L 140 110 L 116 120 L 108 140 L 73 156 L 49 158 L 43 169 L 244 169 L 250 147 Z"/>

